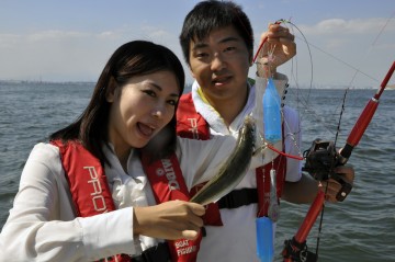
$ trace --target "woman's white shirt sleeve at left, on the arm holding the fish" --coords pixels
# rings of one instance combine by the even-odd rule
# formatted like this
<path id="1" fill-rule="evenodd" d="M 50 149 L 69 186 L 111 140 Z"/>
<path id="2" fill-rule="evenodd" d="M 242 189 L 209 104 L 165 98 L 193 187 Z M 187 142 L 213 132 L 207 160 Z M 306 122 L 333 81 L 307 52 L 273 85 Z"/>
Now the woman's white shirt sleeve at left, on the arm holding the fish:
<path id="1" fill-rule="evenodd" d="M 2 228 L 7 261 L 92 261 L 134 253 L 133 209 L 75 218 L 57 148 L 38 144 Z M 67 183 L 67 182 L 66 182 Z"/>

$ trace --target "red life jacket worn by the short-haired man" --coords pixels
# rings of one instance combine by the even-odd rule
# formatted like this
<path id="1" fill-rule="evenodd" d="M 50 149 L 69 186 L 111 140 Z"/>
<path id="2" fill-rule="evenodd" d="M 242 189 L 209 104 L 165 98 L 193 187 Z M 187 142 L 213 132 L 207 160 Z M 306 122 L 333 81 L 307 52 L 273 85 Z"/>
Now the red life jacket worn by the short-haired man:
<path id="1" fill-rule="evenodd" d="M 177 110 L 177 133 L 181 137 L 191 139 L 210 139 L 208 123 L 200 115 L 193 104 L 192 93 L 183 94 L 180 99 Z M 270 170 L 274 168 L 276 171 L 276 195 L 281 196 L 285 173 L 286 173 L 286 158 L 279 155 L 272 162 L 256 169 L 257 176 L 257 193 L 258 193 L 258 210 L 257 216 L 267 216 L 270 203 Z M 195 194 L 202 185 L 198 185 L 191 191 L 191 195 Z M 193 193 L 192 193 L 193 192 Z M 230 194 L 230 193 L 229 193 Z M 226 197 L 226 196 L 225 196 Z M 214 215 L 218 210 L 217 204 L 210 204 L 208 208 L 212 212 L 212 221 L 205 225 L 218 226 L 222 225 L 221 215 Z M 214 218 L 216 220 L 214 220 Z"/>

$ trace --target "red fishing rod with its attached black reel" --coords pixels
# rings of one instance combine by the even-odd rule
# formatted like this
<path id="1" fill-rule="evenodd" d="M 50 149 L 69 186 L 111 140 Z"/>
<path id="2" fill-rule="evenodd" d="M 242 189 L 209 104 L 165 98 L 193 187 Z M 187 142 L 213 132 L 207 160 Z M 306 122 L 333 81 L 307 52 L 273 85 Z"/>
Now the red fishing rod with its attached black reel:
<path id="1" fill-rule="evenodd" d="M 379 99 L 383 93 L 385 87 L 387 86 L 394 70 L 395 61 L 386 73 L 377 92 L 368 102 L 361 115 L 359 116 L 350 135 L 347 138 L 346 146 L 341 149 L 340 153 L 336 152 L 334 143 L 321 141 L 317 139 L 313 143 L 312 148 L 305 151 L 306 164 L 303 170 L 309 172 L 315 179 L 319 181 L 329 179 L 328 174 L 330 174 L 330 178 L 335 180 L 339 179 L 339 176 L 336 176 L 336 174 L 331 172 L 332 168 L 345 164 L 350 158 L 352 149 L 358 145 L 368 125 L 370 124 L 379 106 Z M 342 187 L 337 195 L 337 200 L 343 201 L 348 193 L 351 191 L 351 185 L 342 180 L 339 180 L 339 182 L 341 183 Z M 318 191 L 317 196 L 314 200 L 311 208 L 308 209 L 307 215 L 303 220 L 296 235 L 291 240 L 285 240 L 284 242 L 284 249 L 282 252 L 284 262 L 317 261 L 317 254 L 307 250 L 306 239 L 319 213 L 324 207 L 324 203 L 325 193 Z"/>

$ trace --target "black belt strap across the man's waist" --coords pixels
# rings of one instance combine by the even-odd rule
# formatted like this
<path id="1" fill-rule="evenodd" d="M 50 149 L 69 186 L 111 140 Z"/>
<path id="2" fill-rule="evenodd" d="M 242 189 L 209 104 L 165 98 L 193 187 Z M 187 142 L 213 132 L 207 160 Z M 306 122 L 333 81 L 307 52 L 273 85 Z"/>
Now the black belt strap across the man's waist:
<path id="1" fill-rule="evenodd" d="M 257 189 L 234 190 L 218 202 L 219 208 L 237 208 L 252 203 L 258 203 Z"/>

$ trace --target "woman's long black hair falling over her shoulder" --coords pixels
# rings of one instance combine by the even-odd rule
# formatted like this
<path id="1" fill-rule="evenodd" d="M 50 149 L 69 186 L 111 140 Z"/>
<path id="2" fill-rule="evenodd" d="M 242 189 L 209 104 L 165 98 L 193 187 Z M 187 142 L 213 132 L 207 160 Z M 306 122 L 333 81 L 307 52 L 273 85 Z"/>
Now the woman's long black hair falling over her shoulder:
<path id="1" fill-rule="evenodd" d="M 179 95 L 183 93 L 185 75 L 180 60 L 167 47 L 146 41 L 133 41 L 119 47 L 111 56 L 99 77 L 92 98 L 76 122 L 55 132 L 50 140 L 60 139 L 80 141 L 102 163 L 109 163 L 102 150 L 109 140 L 109 115 L 111 103 L 106 93 L 126 84 L 131 78 L 157 71 L 174 73 L 179 86 Z M 146 146 L 151 159 L 168 156 L 176 149 L 176 110 L 170 123 Z M 160 138 L 161 143 L 156 143 Z M 155 145 L 155 150 L 151 150 Z M 148 150 L 149 149 L 149 150 Z"/>

